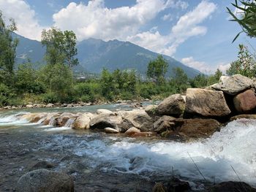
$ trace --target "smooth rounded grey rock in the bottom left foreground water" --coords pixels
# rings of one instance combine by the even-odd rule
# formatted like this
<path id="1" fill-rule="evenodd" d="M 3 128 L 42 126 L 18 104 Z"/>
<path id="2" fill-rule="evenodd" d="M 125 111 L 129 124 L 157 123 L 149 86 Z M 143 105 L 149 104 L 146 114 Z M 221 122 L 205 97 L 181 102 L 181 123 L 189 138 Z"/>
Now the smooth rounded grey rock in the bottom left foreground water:
<path id="1" fill-rule="evenodd" d="M 59 172 L 37 169 L 24 174 L 18 180 L 20 192 L 74 192 L 74 181 L 69 175 Z"/>

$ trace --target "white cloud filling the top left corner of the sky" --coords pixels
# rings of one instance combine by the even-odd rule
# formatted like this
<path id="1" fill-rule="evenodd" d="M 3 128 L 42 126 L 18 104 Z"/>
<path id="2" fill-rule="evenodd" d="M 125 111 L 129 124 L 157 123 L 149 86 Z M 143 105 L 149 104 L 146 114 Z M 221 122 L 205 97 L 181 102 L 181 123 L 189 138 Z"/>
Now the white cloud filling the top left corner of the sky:
<path id="1" fill-rule="evenodd" d="M 29 39 L 41 39 L 42 26 L 36 13 L 23 0 L 0 0 L 0 9 L 6 19 L 13 18 L 18 27 L 18 34 Z"/>

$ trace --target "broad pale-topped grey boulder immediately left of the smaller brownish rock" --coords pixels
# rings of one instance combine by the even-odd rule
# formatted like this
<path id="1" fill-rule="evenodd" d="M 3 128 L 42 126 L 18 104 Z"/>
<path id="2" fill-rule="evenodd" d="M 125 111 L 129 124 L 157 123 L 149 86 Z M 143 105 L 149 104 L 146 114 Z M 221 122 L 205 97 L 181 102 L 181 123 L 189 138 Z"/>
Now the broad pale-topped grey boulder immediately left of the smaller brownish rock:
<path id="1" fill-rule="evenodd" d="M 153 128 L 153 120 L 145 110 L 120 111 L 118 114 L 123 118 L 120 125 L 121 132 L 131 127 L 138 128 L 140 131 L 151 131 Z"/>

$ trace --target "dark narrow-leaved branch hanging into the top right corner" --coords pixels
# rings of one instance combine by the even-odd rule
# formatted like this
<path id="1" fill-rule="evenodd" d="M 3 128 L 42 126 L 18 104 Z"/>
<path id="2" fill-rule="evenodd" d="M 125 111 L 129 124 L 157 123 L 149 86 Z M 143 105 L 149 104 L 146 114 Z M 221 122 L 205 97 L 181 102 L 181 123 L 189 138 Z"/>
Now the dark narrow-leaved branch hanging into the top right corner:
<path id="1" fill-rule="evenodd" d="M 242 28 L 242 31 L 238 33 L 233 39 L 233 42 L 238 36 L 244 32 L 249 37 L 256 37 L 256 1 L 255 0 L 241 0 L 241 5 L 238 5 L 236 0 L 233 5 L 237 9 L 239 15 L 235 15 L 228 7 L 227 12 L 232 16 L 232 21 L 236 21 Z"/>

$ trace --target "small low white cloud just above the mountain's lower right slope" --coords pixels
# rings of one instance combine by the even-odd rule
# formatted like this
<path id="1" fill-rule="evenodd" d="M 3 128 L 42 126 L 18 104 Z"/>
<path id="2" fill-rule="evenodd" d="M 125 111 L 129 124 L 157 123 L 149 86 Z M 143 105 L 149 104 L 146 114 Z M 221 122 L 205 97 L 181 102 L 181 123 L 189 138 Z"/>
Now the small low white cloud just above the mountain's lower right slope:
<path id="1" fill-rule="evenodd" d="M 200 72 L 208 74 L 211 72 L 211 69 L 209 66 L 207 66 L 206 62 L 204 61 L 195 61 L 193 57 L 188 57 L 188 58 L 182 58 L 181 62 L 183 64 L 186 64 L 187 66 L 190 66 L 192 68 L 195 68 L 199 70 Z"/>

